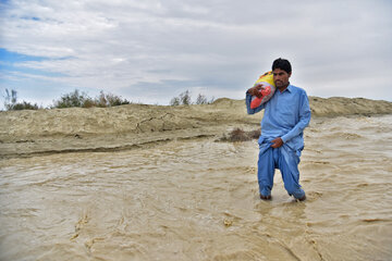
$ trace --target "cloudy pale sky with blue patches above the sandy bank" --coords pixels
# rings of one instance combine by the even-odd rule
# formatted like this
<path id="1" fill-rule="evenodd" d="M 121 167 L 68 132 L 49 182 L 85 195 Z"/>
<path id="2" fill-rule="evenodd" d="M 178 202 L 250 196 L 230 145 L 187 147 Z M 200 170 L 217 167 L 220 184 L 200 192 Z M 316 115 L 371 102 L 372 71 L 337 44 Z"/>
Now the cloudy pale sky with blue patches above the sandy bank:
<path id="1" fill-rule="evenodd" d="M 0 0 L 0 108 L 5 89 L 44 107 L 75 89 L 244 99 L 277 58 L 309 96 L 392 101 L 391 13 L 389 0 Z"/>

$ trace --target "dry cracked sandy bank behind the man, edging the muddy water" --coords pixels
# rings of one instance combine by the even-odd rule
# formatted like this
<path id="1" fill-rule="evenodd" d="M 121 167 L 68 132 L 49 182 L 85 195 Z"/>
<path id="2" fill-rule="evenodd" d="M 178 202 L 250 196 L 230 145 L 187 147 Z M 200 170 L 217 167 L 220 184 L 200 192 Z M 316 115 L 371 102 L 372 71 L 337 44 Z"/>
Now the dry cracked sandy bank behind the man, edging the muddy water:
<path id="1" fill-rule="evenodd" d="M 310 108 L 314 117 L 392 113 L 392 102 L 363 98 L 310 97 Z M 0 157 L 130 149 L 222 135 L 233 127 L 257 128 L 260 119 L 261 114 L 246 114 L 244 100 L 231 99 L 188 107 L 127 104 L 0 112 Z"/>

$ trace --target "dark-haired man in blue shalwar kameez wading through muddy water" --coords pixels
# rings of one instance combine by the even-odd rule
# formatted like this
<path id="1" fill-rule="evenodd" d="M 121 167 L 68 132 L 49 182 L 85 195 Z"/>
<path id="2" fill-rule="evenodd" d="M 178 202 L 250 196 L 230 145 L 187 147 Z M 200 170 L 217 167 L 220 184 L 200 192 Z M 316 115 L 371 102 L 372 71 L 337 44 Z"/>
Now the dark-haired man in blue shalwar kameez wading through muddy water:
<path id="1" fill-rule="evenodd" d="M 309 100 L 306 91 L 291 85 L 292 67 L 287 60 L 277 59 L 272 64 L 277 90 L 272 98 L 256 109 L 250 109 L 252 96 L 260 98 L 261 86 L 246 91 L 248 114 L 265 109 L 259 137 L 258 184 L 260 198 L 271 199 L 274 170 L 282 173 L 284 188 L 290 196 L 305 200 L 299 185 L 298 163 L 304 149 L 304 129 L 310 122 Z"/>

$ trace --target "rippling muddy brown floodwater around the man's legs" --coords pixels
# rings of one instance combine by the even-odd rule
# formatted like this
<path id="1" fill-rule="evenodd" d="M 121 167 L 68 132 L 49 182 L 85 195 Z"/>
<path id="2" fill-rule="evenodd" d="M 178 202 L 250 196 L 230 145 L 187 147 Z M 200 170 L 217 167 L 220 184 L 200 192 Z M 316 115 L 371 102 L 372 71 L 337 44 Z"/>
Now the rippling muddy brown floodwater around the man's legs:
<path id="1" fill-rule="evenodd" d="M 296 202 L 256 141 L 0 161 L 0 260 L 392 260 L 392 116 L 316 119 Z"/>

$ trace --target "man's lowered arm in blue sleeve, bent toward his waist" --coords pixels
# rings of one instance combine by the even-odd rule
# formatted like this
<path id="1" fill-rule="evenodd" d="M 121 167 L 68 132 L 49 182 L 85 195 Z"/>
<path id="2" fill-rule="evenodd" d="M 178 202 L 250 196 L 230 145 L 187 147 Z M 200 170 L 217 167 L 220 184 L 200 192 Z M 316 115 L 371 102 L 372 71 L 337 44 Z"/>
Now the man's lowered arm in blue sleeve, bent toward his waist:
<path id="1" fill-rule="evenodd" d="M 282 141 L 287 142 L 304 132 L 304 129 L 309 125 L 310 115 L 309 99 L 304 90 L 302 91 L 299 99 L 299 121 L 289 133 L 281 137 Z"/>

